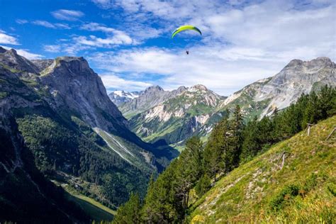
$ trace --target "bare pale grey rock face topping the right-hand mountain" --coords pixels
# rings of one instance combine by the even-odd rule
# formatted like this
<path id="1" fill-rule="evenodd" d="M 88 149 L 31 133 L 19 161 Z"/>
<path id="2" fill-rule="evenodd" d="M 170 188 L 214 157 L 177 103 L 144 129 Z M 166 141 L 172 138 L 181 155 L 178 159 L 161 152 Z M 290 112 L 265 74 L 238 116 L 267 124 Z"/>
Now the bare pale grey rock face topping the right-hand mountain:
<path id="1" fill-rule="evenodd" d="M 268 115 L 271 108 L 286 108 L 295 102 L 301 94 L 318 91 L 325 84 L 335 86 L 335 63 L 327 57 L 303 62 L 292 60 L 278 74 L 265 84 L 260 92 L 254 96 L 255 101 L 271 99 L 262 116 Z"/>

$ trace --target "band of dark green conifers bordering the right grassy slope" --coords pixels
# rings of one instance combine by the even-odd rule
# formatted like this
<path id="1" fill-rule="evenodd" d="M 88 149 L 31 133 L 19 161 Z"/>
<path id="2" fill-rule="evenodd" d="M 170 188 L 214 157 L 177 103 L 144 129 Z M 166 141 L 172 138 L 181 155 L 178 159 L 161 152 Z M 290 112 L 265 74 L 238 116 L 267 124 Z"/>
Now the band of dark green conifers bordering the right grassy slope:
<path id="1" fill-rule="evenodd" d="M 271 116 L 244 121 L 240 106 L 227 111 L 215 125 L 206 144 L 198 137 L 186 141 L 186 147 L 169 167 L 151 179 L 143 200 L 132 194 L 118 208 L 113 223 L 183 223 L 187 221 L 190 194 L 201 197 L 211 183 L 240 164 L 268 150 L 306 128 L 307 123 L 336 114 L 336 89 L 324 86 L 318 93 L 303 94 L 296 103 Z"/>

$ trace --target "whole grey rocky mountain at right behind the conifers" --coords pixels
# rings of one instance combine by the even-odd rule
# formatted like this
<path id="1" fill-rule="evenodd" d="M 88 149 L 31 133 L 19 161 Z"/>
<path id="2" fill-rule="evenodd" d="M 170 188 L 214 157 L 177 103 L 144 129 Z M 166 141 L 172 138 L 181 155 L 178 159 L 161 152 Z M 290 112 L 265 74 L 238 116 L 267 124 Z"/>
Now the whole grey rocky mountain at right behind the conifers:
<path id="1" fill-rule="evenodd" d="M 283 109 L 296 102 L 301 94 L 318 91 L 325 84 L 335 86 L 335 68 L 327 57 L 307 62 L 291 60 L 274 77 L 261 79 L 229 96 L 218 109 L 238 103 L 248 117 L 269 115 L 275 108 Z"/>

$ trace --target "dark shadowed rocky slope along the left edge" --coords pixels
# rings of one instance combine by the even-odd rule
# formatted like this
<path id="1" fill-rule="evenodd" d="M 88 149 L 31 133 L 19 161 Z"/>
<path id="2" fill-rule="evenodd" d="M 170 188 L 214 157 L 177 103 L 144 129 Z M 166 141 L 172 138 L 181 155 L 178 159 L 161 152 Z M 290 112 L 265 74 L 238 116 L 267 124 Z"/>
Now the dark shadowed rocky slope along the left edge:
<path id="1" fill-rule="evenodd" d="M 39 101 L 33 88 L 20 79 L 35 67 L 28 67 L 30 62 L 13 50 L 1 48 L 0 61 L 0 222 L 89 222 L 90 217 L 67 201 L 36 168 L 33 153 L 18 131 L 16 118 L 23 111 L 47 108 L 47 103 Z"/>

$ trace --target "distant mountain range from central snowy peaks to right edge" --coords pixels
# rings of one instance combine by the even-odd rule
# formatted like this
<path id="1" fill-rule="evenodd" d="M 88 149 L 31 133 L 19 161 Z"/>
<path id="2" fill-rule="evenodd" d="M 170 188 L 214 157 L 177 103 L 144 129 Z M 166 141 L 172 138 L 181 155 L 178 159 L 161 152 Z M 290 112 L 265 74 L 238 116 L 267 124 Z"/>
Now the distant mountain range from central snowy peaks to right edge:
<path id="1" fill-rule="evenodd" d="M 273 77 L 258 80 L 231 96 L 219 96 L 203 85 L 164 91 L 151 86 L 137 98 L 118 104 L 130 128 L 143 140 L 179 147 L 191 135 L 206 138 L 228 109 L 239 104 L 245 119 L 261 118 L 286 108 L 301 94 L 336 85 L 335 63 L 327 57 L 292 60 Z"/>

